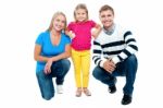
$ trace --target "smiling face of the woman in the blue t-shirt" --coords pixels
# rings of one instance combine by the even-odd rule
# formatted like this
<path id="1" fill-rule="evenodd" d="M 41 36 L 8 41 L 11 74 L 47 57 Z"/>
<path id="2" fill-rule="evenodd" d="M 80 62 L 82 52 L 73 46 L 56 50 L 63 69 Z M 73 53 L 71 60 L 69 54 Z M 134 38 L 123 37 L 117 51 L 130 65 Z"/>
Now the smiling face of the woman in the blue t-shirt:
<path id="1" fill-rule="evenodd" d="M 58 15 L 57 17 L 54 17 L 53 20 L 53 29 L 60 32 L 62 29 L 64 29 L 65 27 L 65 23 L 66 23 L 66 20 L 63 15 Z"/>

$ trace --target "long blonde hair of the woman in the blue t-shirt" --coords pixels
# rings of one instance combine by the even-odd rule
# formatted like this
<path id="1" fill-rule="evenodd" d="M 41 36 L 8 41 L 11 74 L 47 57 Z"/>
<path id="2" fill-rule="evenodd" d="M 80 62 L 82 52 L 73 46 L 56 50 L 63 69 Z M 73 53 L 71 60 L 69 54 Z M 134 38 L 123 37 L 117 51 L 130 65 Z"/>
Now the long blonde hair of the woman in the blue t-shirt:
<path id="1" fill-rule="evenodd" d="M 47 31 L 50 32 L 50 31 L 52 29 L 52 27 L 53 27 L 53 21 L 54 21 L 54 19 L 55 19 L 57 16 L 59 16 L 59 15 L 63 15 L 63 16 L 65 17 L 64 29 L 66 28 L 66 16 L 65 16 L 65 14 L 64 14 L 63 12 L 55 12 L 55 13 L 53 14 L 52 19 L 51 19 L 51 23 L 50 23 L 50 25 L 49 25 L 49 27 L 48 27 Z"/>

